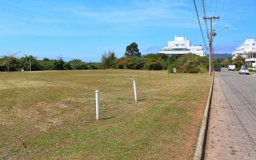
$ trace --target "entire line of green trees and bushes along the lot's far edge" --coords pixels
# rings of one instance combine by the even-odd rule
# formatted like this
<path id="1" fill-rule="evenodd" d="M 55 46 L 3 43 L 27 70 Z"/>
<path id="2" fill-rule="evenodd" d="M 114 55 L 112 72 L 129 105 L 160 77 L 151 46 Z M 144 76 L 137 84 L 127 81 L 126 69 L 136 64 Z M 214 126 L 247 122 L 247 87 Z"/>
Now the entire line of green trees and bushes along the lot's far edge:
<path id="1" fill-rule="evenodd" d="M 244 64 L 244 60 L 227 60 L 217 58 L 214 60 L 214 67 L 227 67 L 227 63 L 236 63 L 236 65 Z M 242 63 L 241 63 L 242 61 Z M 241 63 L 241 64 L 240 64 Z M 172 72 L 173 68 L 177 68 L 177 72 L 198 73 L 207 72 L 209 70 L 209 58 L 196 56 L 195 54 L 173 55 L 168 56 L 164 53 L 150 53 L 141 56 L 138 44 L 133 42 L 128 45 L 125 54 L 121 58 L 116 58 L 115 51 L 104 52 L 100 63 L 82 60 L 64 61 L 62 58 L 50 60 L 44 58 L 37 60 L 35 56 L 24 56 L 16 58 L 14 55 L 5 55 L 0 58 L 0 71 L 28 71 L 30 70 L 88 70 L 88 69 L 143 69 L 143 70 L 168 70 Z"/>

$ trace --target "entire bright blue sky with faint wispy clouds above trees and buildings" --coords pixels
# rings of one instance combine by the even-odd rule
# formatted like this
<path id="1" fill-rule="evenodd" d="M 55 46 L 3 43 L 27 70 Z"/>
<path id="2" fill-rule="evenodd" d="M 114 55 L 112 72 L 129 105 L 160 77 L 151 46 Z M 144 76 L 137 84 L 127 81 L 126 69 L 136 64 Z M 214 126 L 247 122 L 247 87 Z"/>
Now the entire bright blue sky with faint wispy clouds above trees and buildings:
<path id="1" fill-rule="evenodd" d="M 220 16 L 213 29 L 230 26 L 214 38 L 215 52 L 231 53 L 256 38 L 255 6 L 255 0 L 205 0 L 207 16 Z M 123 56 L 132 42 L 141 54 L 159 52 L 174 36 L 204 46 L 192 0 L 0 0 L 0 56 L 21 51 L 17 56 L 100 61 L 104 51 Z"/>

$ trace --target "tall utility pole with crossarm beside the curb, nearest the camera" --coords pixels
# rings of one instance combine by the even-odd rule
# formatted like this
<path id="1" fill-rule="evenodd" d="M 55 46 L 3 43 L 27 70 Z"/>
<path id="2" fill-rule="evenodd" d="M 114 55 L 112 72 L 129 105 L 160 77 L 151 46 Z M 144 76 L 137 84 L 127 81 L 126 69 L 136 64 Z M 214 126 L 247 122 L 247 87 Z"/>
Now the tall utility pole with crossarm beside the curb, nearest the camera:
<path id="1" fill-rule="evenodd" d="M 213 17 L 204 17 L 204 20 L 207 20 L 207 19 L 209 19 L 210 22 L 211 22 L 211 31 L 210 31 L 210 33 L 208 35 L 208 38 L 209 38 L 209 50 L 210 50 L 210 52 L 209 52 L 209 75 L 211 75 L 212 74 L 212 36 L 216 35 L 216 32 L 214 32 L 214 33 L 212 32 L 212 19 L 213 20 L 220 19 L 220 16 L 218 16 L 218 17 L 215 17 L 215 16 L 213 16 Z"/>

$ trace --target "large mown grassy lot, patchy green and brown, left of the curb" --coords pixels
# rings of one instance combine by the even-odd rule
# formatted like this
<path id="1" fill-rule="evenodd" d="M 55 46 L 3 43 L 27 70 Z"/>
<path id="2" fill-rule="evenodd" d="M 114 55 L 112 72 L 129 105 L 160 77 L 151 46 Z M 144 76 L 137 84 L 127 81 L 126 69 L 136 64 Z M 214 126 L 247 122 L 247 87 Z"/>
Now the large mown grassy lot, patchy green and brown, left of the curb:
<path id="1" fill-rule="evenodd" d="M 210 83 L 166 71 L 2 72 L 0 159 L 191 159 Z"/>

